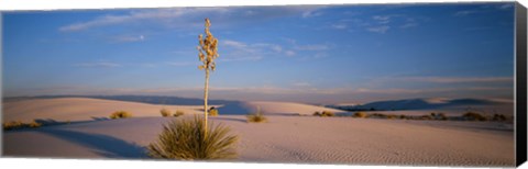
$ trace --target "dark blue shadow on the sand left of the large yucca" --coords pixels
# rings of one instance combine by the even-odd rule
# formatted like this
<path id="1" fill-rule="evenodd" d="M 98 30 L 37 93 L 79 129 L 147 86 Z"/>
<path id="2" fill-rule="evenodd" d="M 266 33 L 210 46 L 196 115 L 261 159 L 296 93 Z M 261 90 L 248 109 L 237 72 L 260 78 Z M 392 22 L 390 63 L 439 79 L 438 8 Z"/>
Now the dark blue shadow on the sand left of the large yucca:
<path id="1" fill-rule="evenodd" d="M 145 147 L 112 136 L 56 128 L 42 128 L 37 131 L 70 143 L 86 146 L 94 149 L 97 154 L 108 158 L 146 158 Z"/>

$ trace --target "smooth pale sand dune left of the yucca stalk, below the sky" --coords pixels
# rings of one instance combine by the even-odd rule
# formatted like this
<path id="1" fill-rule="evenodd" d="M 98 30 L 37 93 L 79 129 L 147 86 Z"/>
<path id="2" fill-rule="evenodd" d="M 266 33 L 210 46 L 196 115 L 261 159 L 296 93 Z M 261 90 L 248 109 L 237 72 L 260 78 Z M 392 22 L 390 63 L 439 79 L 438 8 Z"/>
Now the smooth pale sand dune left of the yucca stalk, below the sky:
<path id="1" fill-rule="evenodd" d="M 161 116 L 160 110 L 176 110 L 199 113 L 199 105 L 162 105 L 136 102 L 112 101 L 88 98 L 34 99 L 3 104 L 3 121 L 30 122 L 33 120 L 90 121 L 108 117 L 116 111 L 128 111 L 133 116 Z"/>

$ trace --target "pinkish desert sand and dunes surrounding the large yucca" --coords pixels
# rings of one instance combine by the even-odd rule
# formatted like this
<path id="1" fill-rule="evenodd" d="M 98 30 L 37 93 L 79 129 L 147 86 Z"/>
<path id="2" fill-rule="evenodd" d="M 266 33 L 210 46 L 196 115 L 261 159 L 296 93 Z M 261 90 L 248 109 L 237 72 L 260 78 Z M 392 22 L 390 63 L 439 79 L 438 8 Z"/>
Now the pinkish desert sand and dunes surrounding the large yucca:
<path id="1" fill-rule="evenodd" d="M 227 112 L 244 108 L 251 112 L 256 105 L 267 115 L 267 123 L 246 123 L 243 113 Z M 158 112 L 162 106 L 186 109 L 189 113 L 162 117 Z M 227 125 L 240 136 L 239 157 L 231 161 L 501 167 L 512 167 L 515 162 L 514 131 L 507 123 L 299 116 L 326 110 L 300 103 L 218 106 L 221 115 L 210 117 L 212 123 Z M 108 116 L 114 109 L 131 110 L 134 117 L 90 119 Z M 4 104 L 4 121 L 31 117 L 79 121 L 4 132 L 3 155 L 148 159 L 144 147 L 156 139 L 162 125 L 170 120 L 190 119 L 195 113 L 199 113 L 199 106 L 80 98 L 10 102 Z"/>

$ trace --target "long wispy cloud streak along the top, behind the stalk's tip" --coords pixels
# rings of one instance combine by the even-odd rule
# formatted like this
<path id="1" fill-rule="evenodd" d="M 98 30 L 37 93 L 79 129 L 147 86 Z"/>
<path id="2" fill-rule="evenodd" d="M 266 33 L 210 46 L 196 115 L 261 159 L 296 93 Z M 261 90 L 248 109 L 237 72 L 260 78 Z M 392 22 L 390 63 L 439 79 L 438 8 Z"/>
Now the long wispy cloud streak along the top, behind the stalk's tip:
<path id="1" fill-rule="evenodd" d="M 240 24 L 298 15 L 301 18 L 314 18 L 321 15 L 322 5 L 292 5 L 292 7 L 243 7 L 243 8 L 174 8 L 174 9 L 146 9 L 134 10 L 124 14 L 108 14 L 95 18 L 92 20 L 77 22 L 61 26 L 61 32 L 78 32 L 101 26 L 111 25 L 138 25 L 138 23 L 151 23 L 169 29 L 189 29 L 202 26 L 204 18 L 215 20 L 215 25 L 226 26 L 230 24 Z"/>

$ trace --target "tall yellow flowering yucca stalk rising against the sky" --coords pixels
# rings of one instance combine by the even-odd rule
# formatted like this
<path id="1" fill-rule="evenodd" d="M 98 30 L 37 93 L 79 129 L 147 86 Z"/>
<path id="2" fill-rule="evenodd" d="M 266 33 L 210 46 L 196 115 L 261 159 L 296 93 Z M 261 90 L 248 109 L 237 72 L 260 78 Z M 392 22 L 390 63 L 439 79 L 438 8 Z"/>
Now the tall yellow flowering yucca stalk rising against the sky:
<path id="1" fill-rule="evenodd" d="M 209 26 L 211 26 L 211 22 L 209 19 L 206 19 L 206 37 L 202 34 L 198 36 L 199 46 L 198 48 L 198 57 L 204 65 L 198 66 L 200 70 L 206 70 L 206 87 L 204 88 L 204 115 L 205 115 L 205 131 L 207 136 L 207 99 L 208 99 L 208 91 L 209 91 L 209 71 L 215 71 L 216 64 L 215 59 L 219 56 L 218 55 L 218 40 L 212 36 L 211 32 L 209 31 Z"/>

